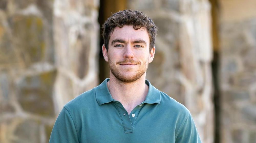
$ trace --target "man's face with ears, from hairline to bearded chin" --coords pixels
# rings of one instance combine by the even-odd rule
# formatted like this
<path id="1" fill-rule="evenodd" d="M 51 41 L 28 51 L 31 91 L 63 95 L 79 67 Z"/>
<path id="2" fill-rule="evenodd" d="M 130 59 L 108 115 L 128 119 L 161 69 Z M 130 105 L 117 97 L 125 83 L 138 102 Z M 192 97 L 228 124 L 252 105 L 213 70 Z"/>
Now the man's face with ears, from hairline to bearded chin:
<path id="1" fill-rule="evenodd" d="M 103 56 L 109 63 L 112 75 L 123 82 L 133 82 L 145 77 L 152 62 L 155 47 L 149 52 L 150 39 L 145 28 L 116 27 L 109 39 L 109 49 L 102 46 Z"/>

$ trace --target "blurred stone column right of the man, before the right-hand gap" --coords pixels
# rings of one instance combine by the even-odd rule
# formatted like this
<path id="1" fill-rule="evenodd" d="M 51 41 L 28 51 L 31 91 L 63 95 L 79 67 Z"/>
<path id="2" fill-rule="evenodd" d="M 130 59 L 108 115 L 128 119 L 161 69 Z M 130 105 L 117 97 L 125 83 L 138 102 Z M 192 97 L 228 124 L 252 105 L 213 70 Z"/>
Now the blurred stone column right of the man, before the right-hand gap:
<path id="1" fill-rule="evenodd" d="M 147 79 L 191 112 L 202 142 L 213 142 L 211 15 L 207 0 L 130 0 L 159 32 Z"/>

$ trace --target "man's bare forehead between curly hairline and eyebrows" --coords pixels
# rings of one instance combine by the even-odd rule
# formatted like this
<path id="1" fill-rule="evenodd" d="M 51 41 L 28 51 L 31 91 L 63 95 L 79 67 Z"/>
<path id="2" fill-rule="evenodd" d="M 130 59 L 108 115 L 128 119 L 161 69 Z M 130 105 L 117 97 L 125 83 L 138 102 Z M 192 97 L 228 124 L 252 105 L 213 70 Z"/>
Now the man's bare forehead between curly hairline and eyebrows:
<path id="1" fill-rule="evenodd" d="M 143 39 L 149 43 L 149 35 L 146 28 L 140 28 L 135 30 L 133 25 L 125 25 L 123 27 L 116 27 L 110 35 L 109 41 L 114 39 L 123 39 L 125 41 L 133 41 L 136 39 Z"/>

